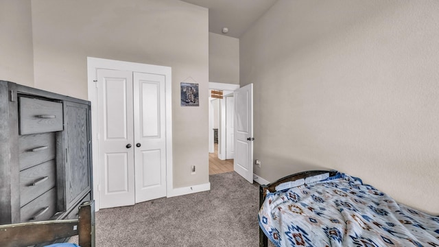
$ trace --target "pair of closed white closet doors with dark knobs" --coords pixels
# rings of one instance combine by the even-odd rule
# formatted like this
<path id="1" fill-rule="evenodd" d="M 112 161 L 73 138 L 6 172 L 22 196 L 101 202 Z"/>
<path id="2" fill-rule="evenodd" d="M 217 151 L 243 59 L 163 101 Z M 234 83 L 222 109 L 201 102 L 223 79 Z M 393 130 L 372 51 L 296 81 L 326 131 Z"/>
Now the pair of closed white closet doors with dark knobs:
<path id="1" fill-rule="evenodd" d="M 99 208 L 166 196 L 165 75 L 97 69 Z"/>

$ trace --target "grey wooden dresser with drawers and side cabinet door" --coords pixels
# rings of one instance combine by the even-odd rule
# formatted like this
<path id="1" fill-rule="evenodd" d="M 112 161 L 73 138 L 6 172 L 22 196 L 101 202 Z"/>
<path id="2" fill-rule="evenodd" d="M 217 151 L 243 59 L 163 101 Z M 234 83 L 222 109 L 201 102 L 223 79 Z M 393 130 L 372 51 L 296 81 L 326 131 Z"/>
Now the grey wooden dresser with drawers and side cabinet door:
<path id="1" fill-rule="evenodd" d="M 78 217 L 93 199 L 90 102 L 0 81 L 0 224 Z"/>

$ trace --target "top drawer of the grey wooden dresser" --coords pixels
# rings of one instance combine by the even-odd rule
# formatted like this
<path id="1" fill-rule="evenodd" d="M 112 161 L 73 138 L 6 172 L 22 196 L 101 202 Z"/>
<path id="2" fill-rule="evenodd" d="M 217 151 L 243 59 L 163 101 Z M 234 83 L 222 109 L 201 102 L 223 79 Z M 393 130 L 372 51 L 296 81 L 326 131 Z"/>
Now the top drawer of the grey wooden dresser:
<path id="1" fill-rule="evenodd" d="M 62 103 L 19 97 L 19 110 L 20 134 L 62 130 Z"/>

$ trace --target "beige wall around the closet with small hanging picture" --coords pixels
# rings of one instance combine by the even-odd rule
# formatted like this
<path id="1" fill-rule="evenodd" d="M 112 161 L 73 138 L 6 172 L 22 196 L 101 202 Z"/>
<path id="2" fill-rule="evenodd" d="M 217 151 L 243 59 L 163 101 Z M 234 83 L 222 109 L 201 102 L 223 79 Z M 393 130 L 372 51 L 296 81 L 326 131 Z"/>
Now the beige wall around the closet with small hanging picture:
<path id="1" fill-rule="evenodd" d="M 207 9 L 177 0 L 32 0 L 32 20 L 37 88 L 86 99 L 87 56 L 172 67 L 174 187 L 209 183 Z M 199 107 L 180 106 L 187 78 L 199 84 Z"/>

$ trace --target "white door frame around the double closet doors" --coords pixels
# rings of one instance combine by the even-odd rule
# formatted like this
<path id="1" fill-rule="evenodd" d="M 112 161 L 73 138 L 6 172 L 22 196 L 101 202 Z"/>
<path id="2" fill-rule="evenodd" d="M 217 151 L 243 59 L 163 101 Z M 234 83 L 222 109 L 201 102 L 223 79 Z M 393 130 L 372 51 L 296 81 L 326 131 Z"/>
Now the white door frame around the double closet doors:
<path id="1" fill-rule="evenodd" d="M 95 199 L 95 210 L 99 211 L 99 152 L 98 152 L 98 117 L 97 117 L 97 69 L 114 69 L 121 71 L 133 71 L 141 73 L 155 73 L 165 75 L 166 86 L 166 187 L 167 196 L 172 193 L 173 187 L 173 161 L 172 161 L 172 97 L 171 97 L 171 67 L 141 64 L 137 62 L 125 62 L 119 60 L 109 60 L 104 58 L 87 57 L 88 75 L 88 100 L 91 102 L 91 130 L 92 130 L 92 152 L 93 152 L 93 195 Z"/>

